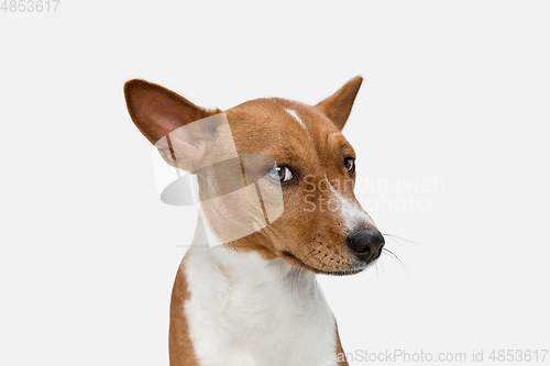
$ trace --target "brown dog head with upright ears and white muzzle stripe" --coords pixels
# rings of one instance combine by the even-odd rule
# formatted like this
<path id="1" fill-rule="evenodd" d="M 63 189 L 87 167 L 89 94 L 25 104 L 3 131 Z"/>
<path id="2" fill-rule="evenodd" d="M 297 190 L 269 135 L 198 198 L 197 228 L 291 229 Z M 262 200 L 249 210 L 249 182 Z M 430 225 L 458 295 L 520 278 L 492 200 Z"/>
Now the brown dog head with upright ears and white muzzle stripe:
<path id="1" fill-rule="evenodd" d="M 364 269 L 384 245 L 353 193 L 356 156 L 341 133 L 361 82 L 348 81 L 316 106 L 264 98 L 223 113 L 143 80 L 128 81 L 124 93 L 132 120 L 163 158 L 197 175 L 201 200 L 213 202 L 205 215 L 220 235 L 270 217 L 282 197 L 276 220 L 223 241 L 227 246 L 344 275 Z M 234 173 L 246 169 L 253 174 L 243 182 Z M 262 192 L 260 208 L 257 190 L 244 189 L 253 185 Z M 239 193 L 228 203 L 231 191 Z M 230 211 L 220 210 L 222 202 Z"/>

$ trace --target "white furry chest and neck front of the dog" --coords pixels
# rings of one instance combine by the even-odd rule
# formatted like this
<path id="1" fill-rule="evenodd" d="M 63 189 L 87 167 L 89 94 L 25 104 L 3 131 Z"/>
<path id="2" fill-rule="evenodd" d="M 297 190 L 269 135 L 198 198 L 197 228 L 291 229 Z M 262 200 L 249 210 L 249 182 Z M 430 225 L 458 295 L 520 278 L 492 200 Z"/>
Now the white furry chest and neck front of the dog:
<path id="1" fill-rule="evenodd" d="M 309 273 L 223 246 L 191 249 L 185 311 L 201 366 L 336 366 L 336 323 Z"/>

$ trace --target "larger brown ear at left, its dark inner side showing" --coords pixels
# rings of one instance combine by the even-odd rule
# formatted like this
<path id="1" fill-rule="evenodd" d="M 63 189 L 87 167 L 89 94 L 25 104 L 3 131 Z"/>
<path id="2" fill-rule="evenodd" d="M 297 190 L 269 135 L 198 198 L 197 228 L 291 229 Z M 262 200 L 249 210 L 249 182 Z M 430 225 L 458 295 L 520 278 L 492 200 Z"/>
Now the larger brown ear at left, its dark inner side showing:
<path id="1" fill-rule="evenodd" d="M 197 107 L 174 91 L 139 79 L 124 85 L 124 97 L 130 117 L 141 133 L 158 147 L 168 164 L 184 169 L 189 169 L 189 163 L 201 157 L 205 140 L 211 138 L 217 127 L 212 119 L 206 123 L 191 122 L 221 113 Z"/>

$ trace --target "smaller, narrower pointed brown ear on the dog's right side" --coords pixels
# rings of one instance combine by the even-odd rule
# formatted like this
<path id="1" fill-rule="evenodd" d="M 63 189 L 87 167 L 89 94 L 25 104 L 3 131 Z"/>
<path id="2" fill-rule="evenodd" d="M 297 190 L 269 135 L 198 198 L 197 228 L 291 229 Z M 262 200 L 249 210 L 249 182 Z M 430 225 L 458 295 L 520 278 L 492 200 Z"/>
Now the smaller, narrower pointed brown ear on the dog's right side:
<path id="1" fill-rule="evenodd" d="M 361 82 L 363 82 L 361 76 L 354 77 L 345 82 L 340 90 L 316 106 L 316 108 L 324 113 L 340 131 L 342 131 L 345 121 L 348 121 L 350 117 L 351 108 L 358 96 Z"/>

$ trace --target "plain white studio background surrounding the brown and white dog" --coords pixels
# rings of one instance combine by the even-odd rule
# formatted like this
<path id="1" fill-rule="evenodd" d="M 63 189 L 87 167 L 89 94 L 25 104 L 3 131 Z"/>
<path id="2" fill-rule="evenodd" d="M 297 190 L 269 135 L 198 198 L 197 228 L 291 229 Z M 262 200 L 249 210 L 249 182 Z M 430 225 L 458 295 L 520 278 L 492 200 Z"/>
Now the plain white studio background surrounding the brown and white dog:
<path id="1" fill-rule="evenodd" d="M 195 222 L 156 196 L 122 93 L 136 77 L 228 109 L 316 103 L 362 75 L 344 130 L 359 178 L 400 188 L 356 195 L 417 244 L 387 239 L 403 266 L 320 278 L 344 350 L 485 350 L 491 364 L 491 350 L 550 348 L 549 18 L 546 1 L 1 11 L 0 364 L 168 363 L 177 246 Z"/>

